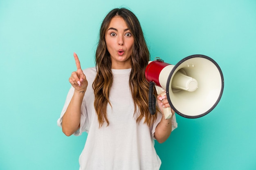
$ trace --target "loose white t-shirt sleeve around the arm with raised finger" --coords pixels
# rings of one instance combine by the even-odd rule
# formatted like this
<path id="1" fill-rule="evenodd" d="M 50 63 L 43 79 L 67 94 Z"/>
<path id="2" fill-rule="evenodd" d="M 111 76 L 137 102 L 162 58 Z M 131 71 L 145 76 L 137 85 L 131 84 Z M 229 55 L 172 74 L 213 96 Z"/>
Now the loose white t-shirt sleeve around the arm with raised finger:
<path id="1" fill-rule="evenodd" d="M 67 93 L 67 98 L 66 98 L 65 104 L 63 106 L 63 109 L 61 111 L 61 116 L 57 120 L 57 125 L 59 127 L 62 127 L 62 117 L 67 110 L 67 106 L 70 104 L 73 94 L 74 94 L 74 88 L 71 86 L 69 92 Z M 73 135 L 79 136 L 82 134 L 82 132 L 88 131 L 88 128 L 86 126 L 86 117 L 87 117 L 86 115 L 87 115 L 87 112 L 86 112 L 85 97 L 84 97 L 82 106 L 81 106 L 80 128 L 78 130 L 76 130 L 76 132 L 74 132 Z"/>

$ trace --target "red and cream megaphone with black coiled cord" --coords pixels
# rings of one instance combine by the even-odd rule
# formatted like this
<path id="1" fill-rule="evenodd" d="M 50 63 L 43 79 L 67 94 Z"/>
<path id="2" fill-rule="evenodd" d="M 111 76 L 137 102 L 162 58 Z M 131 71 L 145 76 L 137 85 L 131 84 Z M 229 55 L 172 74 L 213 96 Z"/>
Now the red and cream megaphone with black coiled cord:
<path id="1" fill-rule="evenodd" d="M 186 118 L 199 118 L 210 113 L 220 101 L 224 89 L 220 66 L 205 55 L 190 55 L 176 65 L 156 57 L 155 61 L 148 63 L 145 75 L 151 84 L 151 114 L 155 114 L 155 96 L 152 97 L 154 86 L 158 95 L 166 94 L 175 113 Z M 171 118 L 171 108 L 164 108 L 166 119 Z"/>

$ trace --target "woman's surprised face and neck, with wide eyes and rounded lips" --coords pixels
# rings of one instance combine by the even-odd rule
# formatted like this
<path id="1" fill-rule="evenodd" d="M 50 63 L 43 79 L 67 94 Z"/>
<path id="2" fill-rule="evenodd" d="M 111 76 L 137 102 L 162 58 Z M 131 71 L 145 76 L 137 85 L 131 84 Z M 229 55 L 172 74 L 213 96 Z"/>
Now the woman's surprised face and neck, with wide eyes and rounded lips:
<path id="1" fill-rule="evenodd" d="M 122 17 L 115 16 L 110 20 L 105 40 L 112 60 L 112 68 L 131 68 L 130 60 L 134 38 Z"/>

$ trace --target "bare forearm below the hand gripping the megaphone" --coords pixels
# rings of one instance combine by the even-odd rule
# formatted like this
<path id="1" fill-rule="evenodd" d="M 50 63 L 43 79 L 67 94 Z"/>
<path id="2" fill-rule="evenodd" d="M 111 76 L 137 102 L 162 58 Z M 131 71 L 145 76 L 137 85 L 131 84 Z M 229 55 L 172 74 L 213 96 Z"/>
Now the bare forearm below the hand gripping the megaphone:
<path id="1" fill-rule="evenodd" d="M 171 121 L 172 121 L 172 119 L 173 119 L 173 116 L 170 119 L 165 119 L 164 116 L 163 116 L 161 121 L 157 125 L 157 127 L 155 129 L 155 139 L 157 139 L 157 141 L 159 143 L 163 143 L 171 135 L 171 131 L 172 131 Z"/>

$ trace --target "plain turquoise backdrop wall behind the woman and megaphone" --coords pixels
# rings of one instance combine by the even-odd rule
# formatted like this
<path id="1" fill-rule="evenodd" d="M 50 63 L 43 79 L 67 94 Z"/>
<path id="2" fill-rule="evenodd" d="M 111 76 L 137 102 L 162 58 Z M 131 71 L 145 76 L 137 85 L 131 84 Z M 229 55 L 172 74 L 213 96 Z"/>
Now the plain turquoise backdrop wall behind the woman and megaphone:
<path id="1" fill-rule="evenodd" d="M 87 135 L 66 137 L 56 120 L 73 52 L 94 66 L 99 26 L 115 7 L 137 15 L 152 59 L 204 54 L 224 75 L 217 107 L 177 115 L 155 144 L 161 170 L 256 170 L 255 0 L 0 0 L 0 170 L 78 170 Z"/>

